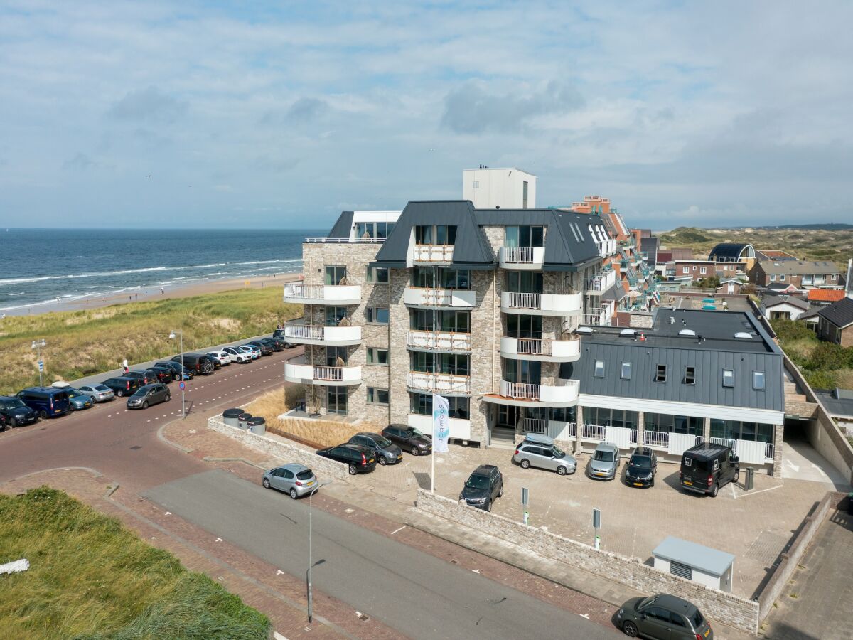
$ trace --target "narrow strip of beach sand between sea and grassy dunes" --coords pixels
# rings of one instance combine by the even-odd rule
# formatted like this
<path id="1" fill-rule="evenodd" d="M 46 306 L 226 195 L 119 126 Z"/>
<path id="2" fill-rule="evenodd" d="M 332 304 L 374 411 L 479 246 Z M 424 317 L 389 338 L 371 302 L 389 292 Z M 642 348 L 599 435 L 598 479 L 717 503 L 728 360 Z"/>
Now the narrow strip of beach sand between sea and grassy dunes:
<path id="1" fill-rule="evenodd" d="M 31 308 L 6 311 L 7 316 L 36 316 L 51 311 L 78 311 L 79 309 L 97 309 L 101 306 L 120 305 L 123 302 L 143 302 L 145 300 L 165 300 L 166 298 L 189 298 L 193 295 L 216 294 L 220 291 L 233 291 L 241 288 L 283 287 L 287 282 L 299 280 L 300 273 L 273 273 L 264 276 L 227 278 L 223 280 L 208 280 L 193 282 L 186 286 L 172 285 L 164 287 L 153 286 L 142 288 L 134 294 L 113 294 L 101 298 L 58 302 L 52 305 L 38 305 Z M 283 293 L 283 292 L 282 292 Z"/>

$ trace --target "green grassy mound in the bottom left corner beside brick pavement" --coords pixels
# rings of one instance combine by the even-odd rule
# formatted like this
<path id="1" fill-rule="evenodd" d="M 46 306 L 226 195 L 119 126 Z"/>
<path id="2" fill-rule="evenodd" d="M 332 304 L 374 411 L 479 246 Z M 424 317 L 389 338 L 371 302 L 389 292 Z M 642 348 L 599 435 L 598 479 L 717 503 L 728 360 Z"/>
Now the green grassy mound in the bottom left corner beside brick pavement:
<path id="1" fill-rule="evenodd" d="M 0 494 L 0 521 L 0 562 L 30 561 L 0 576 L 0 637 L 268 637 L 266 616 L 64 492 Z"/>

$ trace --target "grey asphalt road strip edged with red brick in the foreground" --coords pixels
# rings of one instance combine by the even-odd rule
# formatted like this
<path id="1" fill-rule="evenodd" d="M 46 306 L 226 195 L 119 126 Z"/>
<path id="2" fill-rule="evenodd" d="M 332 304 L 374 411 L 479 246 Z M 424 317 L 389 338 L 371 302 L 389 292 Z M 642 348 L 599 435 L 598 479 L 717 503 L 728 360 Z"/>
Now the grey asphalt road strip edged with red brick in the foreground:
<path id="1" fill-rule="evenodd" d="M 305 577 L 307 499 L 294 501 L 222 470 L 173 480 L 144 496 L 282 571 Z M 313 521 L 315 588 L 406 636 L 620 637 L 319 509 Z"/>

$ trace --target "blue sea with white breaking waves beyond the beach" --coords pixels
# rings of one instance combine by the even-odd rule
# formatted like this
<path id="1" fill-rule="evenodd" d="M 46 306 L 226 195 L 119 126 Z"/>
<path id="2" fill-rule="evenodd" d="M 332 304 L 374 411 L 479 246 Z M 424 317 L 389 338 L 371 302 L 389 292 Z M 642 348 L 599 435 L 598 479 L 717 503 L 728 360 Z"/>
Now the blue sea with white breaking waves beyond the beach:
<path id="1" fill-rule="evenodd" d="M 301 271 L 326 231 L 0 229 L 0 313 Z"/>

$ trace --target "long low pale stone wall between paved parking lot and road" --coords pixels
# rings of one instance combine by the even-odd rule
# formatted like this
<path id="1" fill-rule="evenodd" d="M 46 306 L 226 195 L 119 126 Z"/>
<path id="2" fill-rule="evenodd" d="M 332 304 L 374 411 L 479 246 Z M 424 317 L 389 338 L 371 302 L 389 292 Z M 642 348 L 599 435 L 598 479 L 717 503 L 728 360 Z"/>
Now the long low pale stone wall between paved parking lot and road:
<path id="1" fill-rule="evenodd" d="M 642 593 L 651 595 L 664 592 L 682 597 L 693 602 L 711 619 L 725 621 L 728 625 L 750 633 L 758 631 L 758 602 L 698 585 L 690 580 L 660 572 L 639 561 L 597 550 L 588 544 L 562 538 L 542 529 L 525 527 L 520 522 L 468 507 L 423 489 L 418 489 L 416 506 L 425 513 L 438 515 L 463 527 L 507 540 L 523 550 L 582 568 Z"/>

